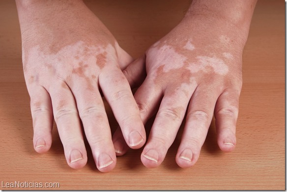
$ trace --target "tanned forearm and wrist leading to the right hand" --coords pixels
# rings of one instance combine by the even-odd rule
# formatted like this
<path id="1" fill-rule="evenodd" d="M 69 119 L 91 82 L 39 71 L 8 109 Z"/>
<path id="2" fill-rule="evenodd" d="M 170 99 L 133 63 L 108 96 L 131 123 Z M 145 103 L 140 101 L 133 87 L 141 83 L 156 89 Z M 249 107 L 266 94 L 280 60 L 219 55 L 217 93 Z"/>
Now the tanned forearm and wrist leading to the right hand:
<path id="1" fill-rule="evenodd" d="M 206 25 L 226 26 L 239 32 L 244 44 L 257 0 L 193 0 L 184 20 L 198 20 Z M 222 30 L 226 30 L 222 29 Z"/>

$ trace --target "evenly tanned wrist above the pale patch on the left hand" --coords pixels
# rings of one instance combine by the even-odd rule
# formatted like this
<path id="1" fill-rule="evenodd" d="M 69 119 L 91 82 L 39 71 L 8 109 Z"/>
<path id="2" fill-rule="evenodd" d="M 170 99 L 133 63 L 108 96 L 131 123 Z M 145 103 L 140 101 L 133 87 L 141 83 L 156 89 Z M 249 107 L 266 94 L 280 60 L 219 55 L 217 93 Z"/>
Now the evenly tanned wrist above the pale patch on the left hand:
<path id="1" fill-rule="evenodd" d="M 82 0 L 16 0 L 16 4 L 22 42 L 33 43 L 43 38 L 64 42 L 105 29 Z M 75 33 L 76 28 L 89 31 Z"/>

